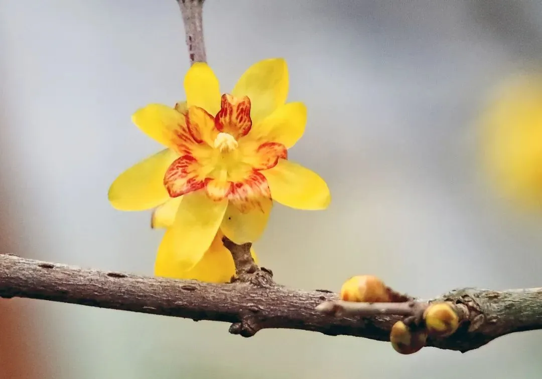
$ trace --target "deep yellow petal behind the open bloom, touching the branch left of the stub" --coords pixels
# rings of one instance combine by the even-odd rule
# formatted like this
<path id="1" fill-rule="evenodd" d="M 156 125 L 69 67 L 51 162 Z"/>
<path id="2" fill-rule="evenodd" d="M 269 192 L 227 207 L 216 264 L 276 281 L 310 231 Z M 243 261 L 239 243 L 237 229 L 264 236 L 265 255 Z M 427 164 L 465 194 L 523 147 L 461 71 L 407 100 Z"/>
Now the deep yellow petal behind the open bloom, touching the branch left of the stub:
<path id="1" fill-rule="evenodd" d="M 231 253 L 222 244 L 223 234 L 219 231 L 212 241 L 203 258 L 190 270 L 180 269 L 172 256 L 161 251 L 156 257 L 154 275 L 174 279 L 194 279 L 209 283 L 228 283 L 235 275 L 234 260 Z M 250 249 L 253 259 L 257 260 L 253 249 Z"/>

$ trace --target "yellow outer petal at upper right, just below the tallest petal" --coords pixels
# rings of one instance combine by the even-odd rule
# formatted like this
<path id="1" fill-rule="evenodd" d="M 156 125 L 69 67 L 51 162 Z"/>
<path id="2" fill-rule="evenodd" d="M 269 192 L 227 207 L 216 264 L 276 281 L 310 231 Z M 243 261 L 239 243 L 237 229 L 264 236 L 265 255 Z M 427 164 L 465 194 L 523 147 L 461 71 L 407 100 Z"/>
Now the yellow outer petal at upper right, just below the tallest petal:
<path id="1" fill-rule="evenodd" d="M 253 126 L 248 139 L 279 142 L 287 149 L 295 145 L 305 132 L 307 107 L 293 102 L 281 105 L 272 114 Z"/>

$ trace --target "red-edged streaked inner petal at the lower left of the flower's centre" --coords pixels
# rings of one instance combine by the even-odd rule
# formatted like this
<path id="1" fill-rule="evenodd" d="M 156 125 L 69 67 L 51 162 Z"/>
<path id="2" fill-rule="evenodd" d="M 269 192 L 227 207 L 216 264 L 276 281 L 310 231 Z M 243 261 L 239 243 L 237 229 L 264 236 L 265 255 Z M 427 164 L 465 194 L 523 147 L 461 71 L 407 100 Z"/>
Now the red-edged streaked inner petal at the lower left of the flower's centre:
<path id="1" fill-rule="evenodd" d="M 170 197 L 176 198 L 205 186 L 202 165 L 192 155 L 177 158 L 164 175 L 164 186 Z"/>

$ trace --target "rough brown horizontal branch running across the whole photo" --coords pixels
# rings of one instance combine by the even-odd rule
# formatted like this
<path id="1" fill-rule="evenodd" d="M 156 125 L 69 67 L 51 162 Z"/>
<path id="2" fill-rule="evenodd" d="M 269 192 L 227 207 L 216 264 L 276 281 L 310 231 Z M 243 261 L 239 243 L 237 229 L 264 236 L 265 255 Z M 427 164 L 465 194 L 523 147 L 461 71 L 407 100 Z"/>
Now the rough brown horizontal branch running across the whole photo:
<path id="1" fill-rule="evenodd" d="M 401 315 L 410 314 L 405 310 L 410 307 L 407 302 L 345 303 L 338 302 L 335 293 L 325 290 L 302 291 L 273 283 L 210 284 L 144 277 L 8 254 L 0 254 L 0 296 L 228 322 L 232 323 L 230 333 L 244 337 L 253 336 L 261 329 L 286 328 L 389 341 L 392 325 L 404 318 Z M 455 304 L 461 310 L 461 323 L 449 337 L 430 337 L 428 346 L 465 352 L 499 336 L 542 329 L 542 288 L 507 291 L 467 288 L 434 300 Z M 327 305 L 316 309 L 322 302 Z M 414 308 L 423 308 L 429 302 L 414 303 L 417 304 Z M 335 317 L 321 311 L 331 304 L 347 309 L 349 316 Z"/>

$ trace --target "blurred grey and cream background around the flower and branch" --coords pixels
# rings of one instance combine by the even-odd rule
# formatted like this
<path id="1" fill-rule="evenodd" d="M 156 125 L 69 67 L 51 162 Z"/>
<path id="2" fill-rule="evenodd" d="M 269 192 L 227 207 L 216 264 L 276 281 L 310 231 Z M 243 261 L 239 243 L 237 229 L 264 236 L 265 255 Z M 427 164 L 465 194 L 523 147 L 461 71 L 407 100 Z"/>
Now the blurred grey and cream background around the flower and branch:
<path id="1" fill-rule="evenodd" d="M 224 90 L 281 56 L 289 100 L 308 106 L 290 156 L 333 200 L 274 208 L 255 247 L 278 282 L 338 291 L 371 273 L 424 298 L 542 285 L 542 210 L 502 195 L 479 122 L 495 87 L 542 67 L 542 3 L 207 0 L 204 33 Z M 107 189 L 160 148 L 134 110 L 184 99 L 177 3 L 2 0 L 0 51 L 0 250 L 152 275 L 163 231 L 150 212 L 115 211 Z M 540 378 L 541 337 L 401 356 L 347 336 L 244 339 L 223 323 L 0 299 L 0 378 Z"/>

